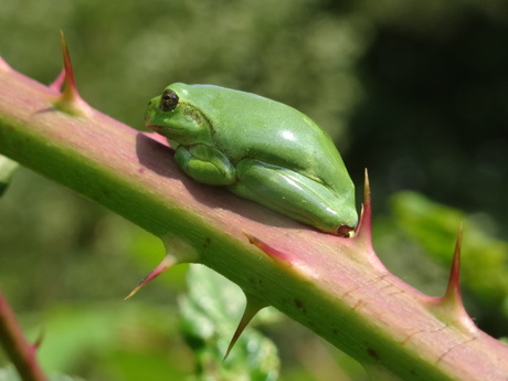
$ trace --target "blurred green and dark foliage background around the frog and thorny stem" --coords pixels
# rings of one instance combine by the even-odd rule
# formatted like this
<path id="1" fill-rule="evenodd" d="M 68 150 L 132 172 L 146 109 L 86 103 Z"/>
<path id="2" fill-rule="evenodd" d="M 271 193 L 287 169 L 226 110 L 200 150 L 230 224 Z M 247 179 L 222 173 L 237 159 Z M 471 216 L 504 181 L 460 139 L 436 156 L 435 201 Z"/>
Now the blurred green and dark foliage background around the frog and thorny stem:
<path id="1" fill-rule="evenodd" d="M 0 55 L 44 84 L 62 66 L 60 30 L 82 96 L 134 128 L 172 82 L 253 92 L 309 115 L 337 144 L 358 205 L 369 169 L 387 266 L 442 295 L 464 222 L 466 308 L 481 329 L 508 336 L 508 2 L 0 2 Z M 177 267 L 123 301 L 162 256 L 154 236 L 30 170 L 0 199 L 0 287 L 29 337 L 44 332 L 49 371 L 99 381 L 367 380 L 275 311 L 256 327 L 269 338 L 260 345 L 268 370 L 239 378 L 235 359 L 210 360 L 203 349 L 227 345 L 244 303 L 237 289 L 222 301 L 235 309 L 222 332 L 189 317 L 199 303 L 186 278 L 202 269 Z M 230 375 L 221 367 L 233 367 Z"/>

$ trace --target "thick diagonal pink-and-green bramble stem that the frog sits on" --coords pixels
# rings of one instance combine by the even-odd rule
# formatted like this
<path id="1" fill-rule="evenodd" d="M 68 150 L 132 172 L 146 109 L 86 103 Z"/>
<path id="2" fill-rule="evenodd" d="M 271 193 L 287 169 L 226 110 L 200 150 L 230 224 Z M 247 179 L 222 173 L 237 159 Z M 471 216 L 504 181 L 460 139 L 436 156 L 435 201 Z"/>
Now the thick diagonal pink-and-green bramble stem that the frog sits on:
<path id="1" fill-rule="evenodd" d="M 507 380 L 508 346 L 464 329 L 438 300 L 390 274 L 370 229 L 354 239 L 324 234 L 199 184 L 168 147 L 92 107 L 62 113 L 54 106 L 60 97 L 0 65 L 0 154 L 166 240 L 170 252 L 192 252 L 192 262 L 371 369 L 414 381 Z M 363 214 L 369 210 L 367 203 Z"/>

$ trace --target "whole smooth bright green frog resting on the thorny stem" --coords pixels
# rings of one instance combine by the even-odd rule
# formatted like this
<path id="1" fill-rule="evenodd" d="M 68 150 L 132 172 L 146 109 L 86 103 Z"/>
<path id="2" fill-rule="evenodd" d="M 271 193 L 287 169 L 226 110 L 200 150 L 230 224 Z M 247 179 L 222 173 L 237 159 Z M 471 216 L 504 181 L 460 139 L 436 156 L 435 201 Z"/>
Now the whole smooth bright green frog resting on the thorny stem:
<path id="1" fill-rule="evenodd" d="M 354 186 L 330 137 L 282 103 L 212 85 L 169 85 L 146 126 L 168 138 L 178 166 L 324 232 L 358 223 Z"/>

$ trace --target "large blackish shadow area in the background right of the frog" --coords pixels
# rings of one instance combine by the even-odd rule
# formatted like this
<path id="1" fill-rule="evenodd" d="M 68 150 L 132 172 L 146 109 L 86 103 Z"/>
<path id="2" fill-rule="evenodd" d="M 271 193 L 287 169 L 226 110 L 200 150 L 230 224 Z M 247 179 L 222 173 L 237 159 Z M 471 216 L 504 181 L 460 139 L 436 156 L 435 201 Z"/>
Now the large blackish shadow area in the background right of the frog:
<path id="1" fill-rule="evenodd" d="M 369 168 L 374 208 L 411 189 L 507 230 L 508 23 L 474 10 L 461 20 L 440 33 L 379 28 L 345 161 L 357 184 Z"/>

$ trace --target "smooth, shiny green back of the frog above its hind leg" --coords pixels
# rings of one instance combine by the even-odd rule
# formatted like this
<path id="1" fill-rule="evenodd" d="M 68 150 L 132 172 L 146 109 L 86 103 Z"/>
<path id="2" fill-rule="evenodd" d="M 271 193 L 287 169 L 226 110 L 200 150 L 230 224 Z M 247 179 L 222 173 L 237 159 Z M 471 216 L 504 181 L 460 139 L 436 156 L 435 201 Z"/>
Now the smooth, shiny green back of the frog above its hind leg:
<path id="1" fill-rule="evenodd" d="M 330 137 L 303 113 L 251 93 L 212 85 L 181 86 L 214 120 L 214 144 L 232 162 L 254 158 L 292 168 L 337 194 L 352 192 L 352 182 L 349 176 L 342 176 L 347 170 Z"/>

